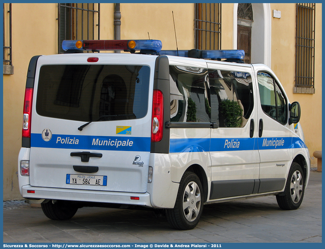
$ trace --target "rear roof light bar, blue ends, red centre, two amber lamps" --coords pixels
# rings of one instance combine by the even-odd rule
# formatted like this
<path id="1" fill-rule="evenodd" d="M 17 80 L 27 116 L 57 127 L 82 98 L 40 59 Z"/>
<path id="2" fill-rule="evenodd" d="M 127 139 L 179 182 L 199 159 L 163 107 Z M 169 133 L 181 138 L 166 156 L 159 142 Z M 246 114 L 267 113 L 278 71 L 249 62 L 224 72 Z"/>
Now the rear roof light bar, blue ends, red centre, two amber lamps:
<path id="1" fill-rule="evenodd" d="M 64 40 L 62 49 L 68 50 L 150 50 L 160 51 L 160 40 Z"/>

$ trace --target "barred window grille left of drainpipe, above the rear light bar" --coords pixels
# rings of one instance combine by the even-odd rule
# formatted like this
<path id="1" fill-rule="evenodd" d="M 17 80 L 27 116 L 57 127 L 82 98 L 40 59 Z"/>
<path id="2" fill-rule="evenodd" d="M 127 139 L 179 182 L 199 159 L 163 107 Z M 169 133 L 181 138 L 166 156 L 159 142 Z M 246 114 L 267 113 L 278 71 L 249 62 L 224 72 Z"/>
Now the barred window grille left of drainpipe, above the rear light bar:
<path id="1" fill-rule="evenodd" d="M 96 21 L 95 21 L 96 20 Z M 97 23 L 96 23 L 97 22 Z M 99 40 L 100 4 L 58 4 L 58 53 L 63 40 Z"/>

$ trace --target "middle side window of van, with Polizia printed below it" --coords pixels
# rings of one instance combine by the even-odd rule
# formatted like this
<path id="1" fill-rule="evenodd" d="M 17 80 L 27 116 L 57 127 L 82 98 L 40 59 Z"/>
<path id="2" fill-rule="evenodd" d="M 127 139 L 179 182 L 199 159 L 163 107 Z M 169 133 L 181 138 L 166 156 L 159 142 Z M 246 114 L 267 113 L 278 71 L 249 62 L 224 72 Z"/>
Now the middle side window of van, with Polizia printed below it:
<path id="1" fill-rule="evenodd" d="M 211 121 L 219 127 L 244 127 L 253 111 L 249 73 L 208 69 Z"/>

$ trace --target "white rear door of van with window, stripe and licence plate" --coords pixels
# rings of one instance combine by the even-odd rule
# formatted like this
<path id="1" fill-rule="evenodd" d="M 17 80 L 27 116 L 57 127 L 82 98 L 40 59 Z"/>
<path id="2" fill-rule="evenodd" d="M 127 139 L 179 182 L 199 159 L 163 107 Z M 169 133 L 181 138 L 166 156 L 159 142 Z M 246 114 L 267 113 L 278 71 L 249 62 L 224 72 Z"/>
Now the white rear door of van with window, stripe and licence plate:
<path id="1" fill-rule="evenodd" d="M 38 59 L 30 184 L 144 193 L 155 58 L 89 55 Z"/>

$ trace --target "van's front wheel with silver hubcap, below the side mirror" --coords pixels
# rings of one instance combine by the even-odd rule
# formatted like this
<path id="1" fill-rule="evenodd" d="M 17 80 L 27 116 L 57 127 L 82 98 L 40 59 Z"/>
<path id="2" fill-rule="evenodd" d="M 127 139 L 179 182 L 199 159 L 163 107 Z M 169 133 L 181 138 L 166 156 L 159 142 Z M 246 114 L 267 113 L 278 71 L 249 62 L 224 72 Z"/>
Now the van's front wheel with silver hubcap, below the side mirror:
<path id="1" fill-rule="evenodd" d="M 297 163 L 291 165 L 284 192 L 284 196 L 276 196 L 279 207 L 284 210 L 298 209 L 304 198 L 305 176 Z"/>

